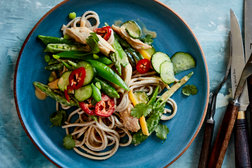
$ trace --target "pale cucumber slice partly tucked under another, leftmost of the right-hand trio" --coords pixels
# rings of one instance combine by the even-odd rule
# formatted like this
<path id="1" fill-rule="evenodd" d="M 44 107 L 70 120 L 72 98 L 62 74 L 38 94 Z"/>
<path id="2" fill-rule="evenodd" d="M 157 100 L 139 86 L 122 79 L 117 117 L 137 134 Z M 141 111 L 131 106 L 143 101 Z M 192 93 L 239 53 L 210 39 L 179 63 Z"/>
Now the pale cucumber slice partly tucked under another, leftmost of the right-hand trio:
<path id="1" fill-rule="evenodd" d="M 152 67 L 157 73 L 160 73 L 160 65 L 165 61 L 171 62 L 171 59 L 167 54 L 162 52 L 156 52 L 151 57 Z"/>

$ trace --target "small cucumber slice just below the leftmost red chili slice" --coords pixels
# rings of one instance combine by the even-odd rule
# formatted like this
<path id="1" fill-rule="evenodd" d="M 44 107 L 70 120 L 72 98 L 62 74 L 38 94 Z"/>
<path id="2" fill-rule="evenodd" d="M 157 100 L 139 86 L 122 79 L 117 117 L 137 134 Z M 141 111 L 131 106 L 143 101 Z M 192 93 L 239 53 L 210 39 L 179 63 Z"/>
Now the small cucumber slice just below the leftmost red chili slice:
<path id="1" fill-rule="evenodd" d="M 74 91 L 74 97 L 80 102 L 87 100 L 91 96 L 92 96 L 91 85 L 83 86 L 83 87 Z"/>

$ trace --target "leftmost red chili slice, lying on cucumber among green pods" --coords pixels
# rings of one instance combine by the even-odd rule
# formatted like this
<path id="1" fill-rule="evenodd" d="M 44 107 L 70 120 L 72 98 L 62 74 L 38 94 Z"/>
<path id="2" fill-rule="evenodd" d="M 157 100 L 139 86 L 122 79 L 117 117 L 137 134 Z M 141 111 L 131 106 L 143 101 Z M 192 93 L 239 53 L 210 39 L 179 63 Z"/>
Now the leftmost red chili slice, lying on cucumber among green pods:
<path id="1" fill-rule="evenodd" d="M 84 67 L 73 70 L 69 76 L 69 85 L 71 89 L 79 89 L 84 83 L 86 70 Z"/>

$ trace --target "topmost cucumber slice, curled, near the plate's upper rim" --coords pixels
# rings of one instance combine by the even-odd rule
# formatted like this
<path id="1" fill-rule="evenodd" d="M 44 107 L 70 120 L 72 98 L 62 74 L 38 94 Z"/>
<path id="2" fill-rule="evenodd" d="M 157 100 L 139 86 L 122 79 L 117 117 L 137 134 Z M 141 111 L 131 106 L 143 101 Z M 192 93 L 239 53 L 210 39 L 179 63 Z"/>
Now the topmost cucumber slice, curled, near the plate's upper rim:
<path id="1" fill-rule="evenodd" d="M 125 28 L 126 32 L 128 33 L 130 37 L 135 38 L 135 39 L 138 39 L 141 37 L 141 34 L 142 34 L 141 28 L 133 20 L 124 22 L 121 27 Z"/>

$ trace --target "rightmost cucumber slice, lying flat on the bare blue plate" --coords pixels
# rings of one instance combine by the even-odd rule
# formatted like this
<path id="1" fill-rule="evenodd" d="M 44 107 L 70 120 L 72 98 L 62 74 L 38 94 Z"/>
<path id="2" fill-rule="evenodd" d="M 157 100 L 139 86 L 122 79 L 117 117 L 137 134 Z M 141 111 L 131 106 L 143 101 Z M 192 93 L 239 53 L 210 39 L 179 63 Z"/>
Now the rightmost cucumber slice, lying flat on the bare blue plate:
<path id="1" fill-rule="evenodd" d="M 194 58 L 190 54 L 184 52 L 175 53 L 172 56 L 171 61 L 174 66 L 175 74 L 181 71 L 194 68 L 196 66 Z"/>

